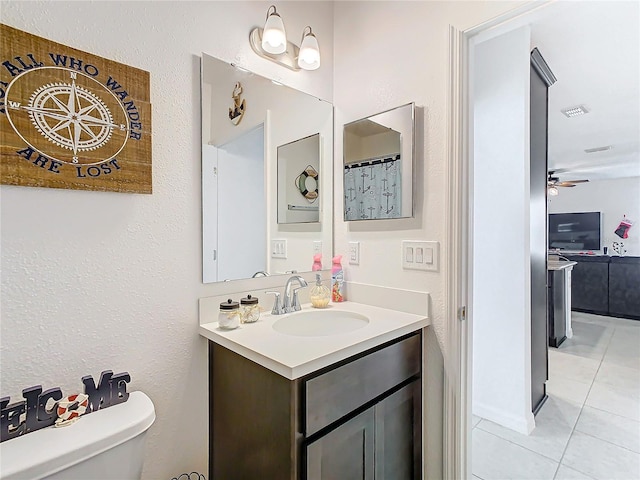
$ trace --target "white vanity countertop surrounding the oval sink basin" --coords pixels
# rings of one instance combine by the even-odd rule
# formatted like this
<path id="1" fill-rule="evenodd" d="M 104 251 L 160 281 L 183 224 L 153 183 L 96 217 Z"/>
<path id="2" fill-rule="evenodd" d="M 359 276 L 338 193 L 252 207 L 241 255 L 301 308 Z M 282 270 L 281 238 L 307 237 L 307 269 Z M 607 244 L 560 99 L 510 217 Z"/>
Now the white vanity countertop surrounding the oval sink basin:
<path id="1" fill-rule="evenodd" d="M 303 311 L 314 310 L 310 304 Z M 200 325 L 200 334 L 290 380 L 300 378 L 352 355 L 430 325 L 423 315 L 388 310 L 354 302 L 330 304 L 322 311 L 359 313 L 369 323 L 358 330 L 338 335 L 299 337 L 273 329 L 285 315 L 263 313 L 256 323 L 235 330 L 221 330 L 218 322 Z M 296 315 L 295 313 L 289 315 Z"/>

